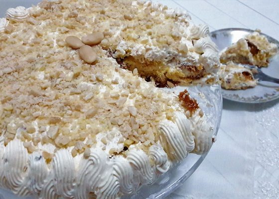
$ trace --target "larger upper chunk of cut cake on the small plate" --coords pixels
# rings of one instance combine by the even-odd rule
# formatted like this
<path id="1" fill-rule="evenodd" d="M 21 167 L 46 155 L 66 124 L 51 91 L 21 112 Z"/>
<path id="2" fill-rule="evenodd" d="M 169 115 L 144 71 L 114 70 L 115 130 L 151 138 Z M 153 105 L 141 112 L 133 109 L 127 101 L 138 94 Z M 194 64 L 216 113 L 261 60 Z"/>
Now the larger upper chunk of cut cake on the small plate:
<path id="1" fill-rule="evenodd" d="M 266 36 L 255 31 L 224 49 L 220 61 L 267 67 L 269 59 L 277 53 L 277 50 L 276 44 L 270 43 Z"/>

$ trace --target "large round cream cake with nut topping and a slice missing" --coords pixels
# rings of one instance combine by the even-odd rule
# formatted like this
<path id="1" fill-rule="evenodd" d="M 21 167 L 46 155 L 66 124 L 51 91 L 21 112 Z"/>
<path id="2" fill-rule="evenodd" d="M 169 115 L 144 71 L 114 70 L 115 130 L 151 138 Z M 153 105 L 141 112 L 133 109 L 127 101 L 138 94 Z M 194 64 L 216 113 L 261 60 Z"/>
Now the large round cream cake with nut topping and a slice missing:
<path id="1" fill-rule="evenodd" d="M 218 67 L 208 27 L 161 4 L 9 8 L 0 18 L 0 188 L 116 199 L 153 184 L 214 140 L 186 90 L 156 86 L 209 83 Z"/>

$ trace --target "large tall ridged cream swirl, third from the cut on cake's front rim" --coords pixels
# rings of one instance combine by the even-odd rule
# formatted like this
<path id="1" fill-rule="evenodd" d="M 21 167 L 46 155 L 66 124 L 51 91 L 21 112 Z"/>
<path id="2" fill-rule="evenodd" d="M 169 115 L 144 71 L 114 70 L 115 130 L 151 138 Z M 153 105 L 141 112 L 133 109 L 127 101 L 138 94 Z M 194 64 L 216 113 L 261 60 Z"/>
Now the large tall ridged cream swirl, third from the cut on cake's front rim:
<path id="1" fill-rule="evenodd" d="M 186 144 L 178 126 L 170 120 L 159 124 L 160 141 L 169 157 L 173 160 L 183 160 L 187 156 Z"/>

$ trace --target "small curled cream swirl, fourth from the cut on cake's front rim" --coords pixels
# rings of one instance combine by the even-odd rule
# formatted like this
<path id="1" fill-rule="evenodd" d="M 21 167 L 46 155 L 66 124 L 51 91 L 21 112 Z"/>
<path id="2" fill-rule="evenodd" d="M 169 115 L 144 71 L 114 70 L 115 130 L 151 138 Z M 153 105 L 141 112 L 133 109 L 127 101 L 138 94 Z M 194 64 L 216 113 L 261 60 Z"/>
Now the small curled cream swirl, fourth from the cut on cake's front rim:
<path id="1" fill-rule="evenodd" d="M 149 158 L 154 161 L 155 168 L 159 174 L 168 171 L 170 162 L 167 154 L 160 145 L 152 145 L 149 147 Z"/>

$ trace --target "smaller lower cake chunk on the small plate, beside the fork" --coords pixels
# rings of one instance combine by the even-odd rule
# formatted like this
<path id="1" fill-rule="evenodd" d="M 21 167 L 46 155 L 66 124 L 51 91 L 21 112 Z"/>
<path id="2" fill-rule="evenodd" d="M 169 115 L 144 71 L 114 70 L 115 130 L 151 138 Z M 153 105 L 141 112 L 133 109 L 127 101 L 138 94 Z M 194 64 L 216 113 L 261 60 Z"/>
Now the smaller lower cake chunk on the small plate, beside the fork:
<path id="1" fill-rule="evenodd" d="M 257 80 L 254 79 L 252 71 L 242 64 L 233 62 L 221 64 L 218 75 L 223 89 L 241 90 L 253 88 L 257 85 Z"/>

